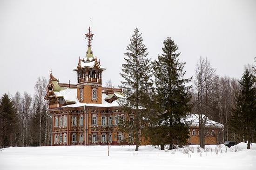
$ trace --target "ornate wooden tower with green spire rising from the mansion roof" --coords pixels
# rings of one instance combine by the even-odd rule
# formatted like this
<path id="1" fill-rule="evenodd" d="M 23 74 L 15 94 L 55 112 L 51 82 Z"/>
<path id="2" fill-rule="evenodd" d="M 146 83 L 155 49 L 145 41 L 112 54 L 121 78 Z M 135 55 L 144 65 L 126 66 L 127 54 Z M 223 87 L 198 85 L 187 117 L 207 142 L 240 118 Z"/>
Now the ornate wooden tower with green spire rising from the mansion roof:
<path id="1" fill-rule="evenodd" d="M 91 49 L 91 41 L 94 34 L 89 27 L 85 34 L 88 39 L 88 49 L 83 59 L 79 58 L 77 66 L 73 69 L 77 72 L 77 97 L 81 103 L 101 104 L 102 72 L 106 69 L 101 66 L 94 57 Z"/>

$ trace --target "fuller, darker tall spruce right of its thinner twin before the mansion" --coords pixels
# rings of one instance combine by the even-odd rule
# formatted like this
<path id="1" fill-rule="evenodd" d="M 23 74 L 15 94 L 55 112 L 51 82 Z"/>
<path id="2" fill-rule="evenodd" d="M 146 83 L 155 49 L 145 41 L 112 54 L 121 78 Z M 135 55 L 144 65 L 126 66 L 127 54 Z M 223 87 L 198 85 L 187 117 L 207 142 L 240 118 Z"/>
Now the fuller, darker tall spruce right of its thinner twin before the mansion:
<path id="1" fill-rule="evenodd" d="M 185 123 L 187 113 L 191 110 L 189 104 L 191 94 L 186 83 L 189 79 L 184 78 L 184 64 L 178 60 L 180 52 L 176 52 L 178 46 L 171 38 L 164 41 L 163 54 L 158 56 L 158 60 L 153 62 L 156 86 L 155 102 L 157 110 L 152 115 L 151 141 L 160 142 L 159 145 L 170 144 L 185 145 L 189 138 L 189 126 Z M 152 109 L 154 110 L 154 109 Z M 161 140 L 160 140 L 161 139 Z"/>

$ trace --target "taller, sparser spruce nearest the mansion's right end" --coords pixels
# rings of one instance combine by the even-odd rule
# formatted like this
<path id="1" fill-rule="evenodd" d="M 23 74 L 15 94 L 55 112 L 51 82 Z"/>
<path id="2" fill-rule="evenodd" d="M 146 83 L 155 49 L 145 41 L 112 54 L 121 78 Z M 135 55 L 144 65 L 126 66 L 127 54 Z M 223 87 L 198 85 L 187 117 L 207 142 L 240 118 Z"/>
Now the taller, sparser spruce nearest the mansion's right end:
<path id="1" fill-rule="evenodd" d="M 124 54 L 125 63 L 122 64 L 122 73 L 120 73 L 124 79 L 121 82 L 121 89 L 126 98 L 121 100 L 120 104 L 126 112 L 134 113 L 135 119 L 125 119 L 121 122 L 120 130 L 128 133 L 130 138 L 135 138 L 135 151 L 138 151 L 141 142 L 141 126 L 145 120 L 142 119 L 145 118 L 144 106 L 152 85 L 150 82 L 151 63 L 138 28 L 135 28 L 130 41 L 131 44 L 127 46 L 127 52 Z"/>

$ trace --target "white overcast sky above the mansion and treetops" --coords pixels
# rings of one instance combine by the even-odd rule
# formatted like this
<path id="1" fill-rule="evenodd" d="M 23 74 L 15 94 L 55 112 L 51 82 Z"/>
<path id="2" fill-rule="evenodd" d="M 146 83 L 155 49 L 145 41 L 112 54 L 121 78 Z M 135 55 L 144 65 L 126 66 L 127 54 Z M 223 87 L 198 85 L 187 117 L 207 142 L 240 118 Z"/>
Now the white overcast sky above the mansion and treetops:
<path id="1" fill-rule="evenodd" d="M 0 0 L 0 95 L 33 94 L 50 69 L 60 82 L 77 83 L 72 68 L 85 57 L 90 18 L 103 82 L 115 87 L 135 27 L 152 59 L 173 38 L 188 77 L 200 56 L 236 78 L 256 57 L 256 0 Z"/>

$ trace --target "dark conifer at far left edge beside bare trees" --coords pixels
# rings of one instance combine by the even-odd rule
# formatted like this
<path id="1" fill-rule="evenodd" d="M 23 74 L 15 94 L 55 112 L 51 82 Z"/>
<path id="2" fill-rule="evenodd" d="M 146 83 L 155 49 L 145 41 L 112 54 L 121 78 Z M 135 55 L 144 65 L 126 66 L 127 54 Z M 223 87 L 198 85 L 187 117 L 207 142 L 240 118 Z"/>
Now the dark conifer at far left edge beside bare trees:
<path id="1" fill-rule="evenodd" d="M 15 107 L 13 101 L 7 94 L 4 94 L 0 101 L 0 128 L 1 145 L 3 147 L 13 145 L 13 134 L 16 126 Z"/>

